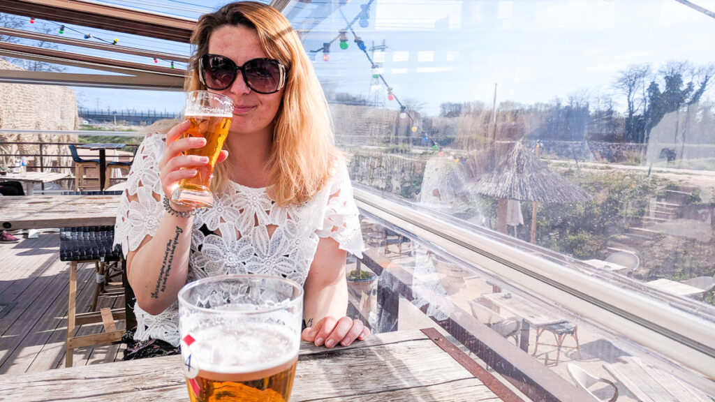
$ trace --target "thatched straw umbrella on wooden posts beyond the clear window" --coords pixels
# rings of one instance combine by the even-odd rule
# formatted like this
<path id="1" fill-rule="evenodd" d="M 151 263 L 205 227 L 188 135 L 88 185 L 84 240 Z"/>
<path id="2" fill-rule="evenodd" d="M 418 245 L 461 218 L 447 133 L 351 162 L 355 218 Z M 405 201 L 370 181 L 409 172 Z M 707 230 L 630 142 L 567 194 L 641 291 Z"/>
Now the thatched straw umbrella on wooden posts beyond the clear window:
<path id="1" fill-rule="evenodd" d="M 591 196 L 551 170 L 521 142 L 481 178 L 476 192 L 499 198 L 498 230 L 506 230 L 507 200 L 531 201 L 531 242 L 536 240 L 536 202 L 581 202 Z"/>

